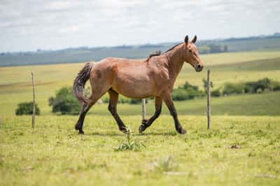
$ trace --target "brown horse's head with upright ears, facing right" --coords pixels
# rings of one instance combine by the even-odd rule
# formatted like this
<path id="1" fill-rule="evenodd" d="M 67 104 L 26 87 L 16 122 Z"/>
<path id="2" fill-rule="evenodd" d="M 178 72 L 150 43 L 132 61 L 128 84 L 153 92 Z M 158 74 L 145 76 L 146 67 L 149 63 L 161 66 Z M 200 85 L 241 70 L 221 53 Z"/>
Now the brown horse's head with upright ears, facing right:
<path id="1" fill-rule="evenodd" d="M 195 41 L 197 41 L 197 36 L 195 36 L 190 42 L 188 42 L 188 36 L 186 36 L 183 46 L 183 59 L 185 62 L 188 62 L 191 66 L 193 66 L 195 71 L 200 72 L 202 71 L 204 65 L 198 54 Z"/>

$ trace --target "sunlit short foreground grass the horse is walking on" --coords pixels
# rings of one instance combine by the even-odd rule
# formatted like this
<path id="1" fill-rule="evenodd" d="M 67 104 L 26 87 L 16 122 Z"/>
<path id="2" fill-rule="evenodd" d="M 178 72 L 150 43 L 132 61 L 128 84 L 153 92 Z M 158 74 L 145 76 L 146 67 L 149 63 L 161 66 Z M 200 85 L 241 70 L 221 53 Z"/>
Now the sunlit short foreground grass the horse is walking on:
<path id="1" fill-rule="evenodd" d="M 115 147 L 125 140 L 112 117 L 89 115 L 85 135 L 76 117 L 3 117 L 0 185 L 279 185 L 280 117 L 180 115 L 188 135 L 162 115 L 144 135 L 146 148 Z M 137 132 L 141 117 L 123 117 Z M 167 162 L 168 157 L 170 159 Z"/>

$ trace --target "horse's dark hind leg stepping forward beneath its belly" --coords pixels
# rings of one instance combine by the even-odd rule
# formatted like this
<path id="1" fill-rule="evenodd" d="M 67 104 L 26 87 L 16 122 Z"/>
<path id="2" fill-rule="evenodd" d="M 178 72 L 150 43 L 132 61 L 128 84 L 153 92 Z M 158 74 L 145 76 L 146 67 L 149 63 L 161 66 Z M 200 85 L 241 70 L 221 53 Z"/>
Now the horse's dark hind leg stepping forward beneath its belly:
<path id="1" fill-rule="evenodd" d="M 118 123 L 118 129 L 127 133 L 127 127 L 125 127 L 125 124 L 123 124 L 123 121 L 120 120 L 120 116 L 117 113 L 118 93 L 114 90 L 109 90 L 108 93 L 110 96 L 108 109 Z"/>

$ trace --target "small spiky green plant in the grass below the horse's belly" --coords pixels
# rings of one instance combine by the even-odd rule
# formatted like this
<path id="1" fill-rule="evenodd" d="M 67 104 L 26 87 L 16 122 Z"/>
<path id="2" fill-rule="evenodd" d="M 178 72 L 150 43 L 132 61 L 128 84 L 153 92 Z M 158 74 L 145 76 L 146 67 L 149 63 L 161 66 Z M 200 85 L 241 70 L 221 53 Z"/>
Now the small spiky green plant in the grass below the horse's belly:
<path id="1" fill-rule="evenodd" d="M 125 151 L 125 150 L 133 150 L 133 151 L 139 151 L 141 148 L 146 148 L 143 142 L 141 141 L 135 141 L 131 138 L 132 136 L 132 130 L 127 127 L 127 139 L 120 143 L 117 148 L 115 148 L 116 151 Z"/>

